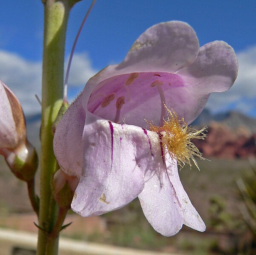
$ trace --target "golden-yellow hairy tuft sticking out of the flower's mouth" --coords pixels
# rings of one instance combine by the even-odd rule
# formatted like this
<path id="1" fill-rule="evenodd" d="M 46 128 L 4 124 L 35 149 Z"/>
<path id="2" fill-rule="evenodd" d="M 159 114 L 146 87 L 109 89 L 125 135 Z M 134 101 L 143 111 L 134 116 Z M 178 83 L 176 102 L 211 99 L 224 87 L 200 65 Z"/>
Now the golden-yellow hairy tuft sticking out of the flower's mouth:
<path id="1" fill-rule="evenodd" d="M 181 168 L 185 164 L 191 167 L 191 160 L 198 167 L 198 163 L 194 158 L 197 156 L 200 159 L 202 153 L 198 150 L 192 139 L 203 139 L 206 137 L 206 127 L 201 130 L 196 130 L 187 125 L 184 118 L 178 119 L 178 115 L 167 108 L 167 116 L 164 118 L 163 126 L 155 126 L 154 123 L 147 121 L 150 125 L 150 131 L 157 132 L 161 139 L 164 155 L 169 153 L 171 158 L 177 160 Z"/>

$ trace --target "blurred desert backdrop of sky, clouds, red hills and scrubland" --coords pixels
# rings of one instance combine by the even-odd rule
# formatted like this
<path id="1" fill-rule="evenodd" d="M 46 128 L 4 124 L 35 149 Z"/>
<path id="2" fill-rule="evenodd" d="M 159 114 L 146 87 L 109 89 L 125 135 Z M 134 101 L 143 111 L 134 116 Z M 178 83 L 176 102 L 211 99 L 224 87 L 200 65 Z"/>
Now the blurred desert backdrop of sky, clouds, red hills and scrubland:
<path id="1" fill-rule="evenodd" d="M 66 60 L 90 1 L 72 9 Z M 0 79 L 19 98 L 30 142 L 39 152 L 43 5 L 40 0 L 0 0 Z M 254 0 L 98 0 L 73 58 L 71 102 L 93 74 L 121 62 L 148 27 L 182 20 L 195 29 L 200 45 L 224 40 L 236 51 L 239 75 L 233 87 L 210 96 L 192 124 L 208 126 L 206 140 L 195 141 L 208 160 L 180 171 L 190 200 L 207 225 L 204 233 L 188 227 L 174 237 L 156 233 L 137 200 L 115 212 L 81 218 L 61 235 L 78 240 L 181 254 L 256 254 L 256 2 Z M 67 62 L 67 61 L 66 61 Z M 15 179 L 0 157 L 0 227 L 36 232 L 26 185 Z M 38 183 L 38 182 L 37 182 Z M 37 185 L 38 191 L 38 185 Z"/>

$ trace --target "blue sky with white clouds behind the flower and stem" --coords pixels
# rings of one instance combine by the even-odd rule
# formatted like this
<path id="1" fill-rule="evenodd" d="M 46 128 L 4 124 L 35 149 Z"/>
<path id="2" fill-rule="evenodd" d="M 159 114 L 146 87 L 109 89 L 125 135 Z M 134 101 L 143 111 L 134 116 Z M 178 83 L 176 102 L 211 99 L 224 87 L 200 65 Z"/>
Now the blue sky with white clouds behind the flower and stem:
<path id="1" fill-rule="evenodd" d="M 40 111 L 43 5 L 40 0 L 0 0 L 0 79 L 20 99 L 26 115 Z M 66 59 L 90 4 L 82 0 L 69 17 Z M 255 0 L 98 0 L 75 51 L 69 99 L 93 74 L 119 63 L 136 38 L 155 23 L 182 20 L 196 31 L 200 45 L 224 40 L 237 53 L 239 75 L 228 92 L 211 95 L 213 112 L 235 109 L 256 117 Z"/>

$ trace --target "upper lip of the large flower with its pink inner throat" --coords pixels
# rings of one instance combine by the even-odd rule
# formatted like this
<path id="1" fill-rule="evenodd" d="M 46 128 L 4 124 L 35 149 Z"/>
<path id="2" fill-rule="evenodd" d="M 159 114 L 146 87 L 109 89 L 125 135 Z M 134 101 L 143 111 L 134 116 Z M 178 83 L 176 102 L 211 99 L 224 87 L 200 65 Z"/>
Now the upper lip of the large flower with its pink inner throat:
<path id="1" fill-rule="evenodd" d="M 89 96 L 92 94 L 88 105 L 89 111 L 95 111 L 96 115 L 115 120 L 116 99 L 124 96 L 125 104 L 118 121 L 123 117 L 126 123 L 145 127 L 143 121 L 145 116 L 158 124 L 163 117 L 161 116 L 163 101 L 178 116 L 184 117 L 188 124 L 195 120 L 211 92 L 222 92 L 232 86 L 236 79 L 238 64 L 233 49 L 222 41 L 215 41 L 201 47 L 196 57 L 197 38 L 193 29 L 191 31 L 190 29 L 186 23 L 174 21 L 160 23 L 148 29 L 138 38 L 121 64 L 108 66 L 89 80 L 87 89 L 83 92 L 83 96 L 86 97 L 83 101 L 84 109 L 87 109 Z M 191 40 L 188 40 L 185 32 L 188 37 L 191 36 Z M 164 42 L 170 39 L 169 35 L 173 36 L 170 49 L 168 43 L 164 46 Z M 166 40 L 161 41 L 160 36 Z M 186 43 L 186 50 L 177 49 L 179 46 L 182 48 Z M 173 52 L 178 52 L 177 57 L 180 57 L 182 63 L 186 58 L 185 65 L 190 66 L 180 69 L 183 67 L 180 62 L 177 69 L 173 68 L 175 57 L 172 49 L 175 49 Z M 179 55 L 181 52 L 182 54 L 185 52 L 185 58 Z M 190 57 L 188 57 L 189 52 Z M 170 64 L 170 68 L 166 67 L 166 63 Z M 178 71 L 175 72 L 176 70 Z M 129 83 L 133 76 L 135 78 Z M 127 82 L 129 86 L 126 86 Z M 162 84 L 153 86 L 154 83 Z M 164 98 L 161 97 L 160 90 Z M 115 100 L 102 109 L 101 101 L 112 93 L 116 93 Z M 92 102 L 95 97 L 98 97 L 97 100 Z"/>

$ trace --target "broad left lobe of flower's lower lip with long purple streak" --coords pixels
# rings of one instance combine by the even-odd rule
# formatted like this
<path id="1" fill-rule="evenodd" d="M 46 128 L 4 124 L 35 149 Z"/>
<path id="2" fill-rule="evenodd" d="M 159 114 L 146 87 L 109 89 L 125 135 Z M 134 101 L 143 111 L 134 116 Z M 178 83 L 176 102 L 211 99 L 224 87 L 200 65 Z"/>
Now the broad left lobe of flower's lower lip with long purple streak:
<path id="1" fill-rule="evenodd" d="M 136 157 L 145 143 L 148 141 L 143 129 L 112 123 L 86 112 L 83 174 L 72 209 L 82 216 L 100 215 L 136 198 L 144 188 Z"/>

